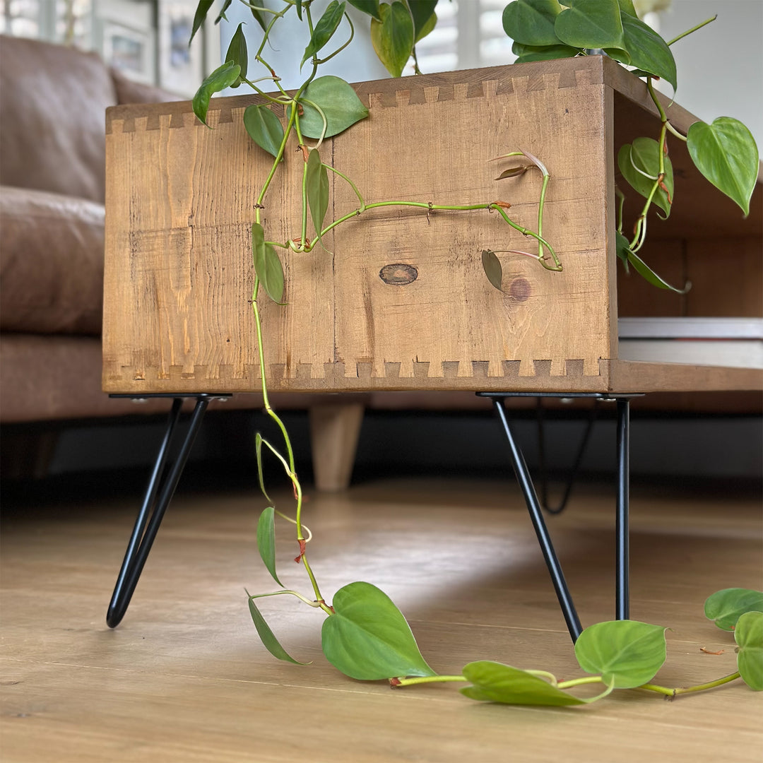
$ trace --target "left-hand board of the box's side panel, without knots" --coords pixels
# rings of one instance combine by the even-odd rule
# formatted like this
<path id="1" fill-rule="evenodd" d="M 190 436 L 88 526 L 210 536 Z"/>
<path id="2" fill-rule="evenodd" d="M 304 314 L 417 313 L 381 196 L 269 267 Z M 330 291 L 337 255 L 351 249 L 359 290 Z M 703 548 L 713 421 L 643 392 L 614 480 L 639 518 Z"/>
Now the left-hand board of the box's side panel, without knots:
<path id="1" fill-rule="evenodd" d="M 228 99 L 221 99 L 228 100 Z M 104 387 L 107 391 L 256 391 L 251 224 L 269 164 L 246 135 L 243 107 L 111 121 L 107 135 Z M 299 164 L 269 192 L 272 240 L 298 235 Z M 278 214 L 271 213 L 278 211 Z M 331 237 L 327 237 L 327 242 Z M 284 258 L 287 311 L 263 306 L 269 365 L 320 369 L 333 356 L 332 270 Z M 298 293 L 292 284 L 299 284 Z M 316 295 L 320 295 L 317 298 Z M 316 300 L 320 301 L 317 304 Z M 263 303 L 266 299 L 261 297 Z M 288 314 L 288 320 L 284 320 Z M 295 327 L 311 336 L 295 356 Z M 298 346 L 298 345 L 297 345 Z M 307 341 L 304 347 L 307 347 Z"/>

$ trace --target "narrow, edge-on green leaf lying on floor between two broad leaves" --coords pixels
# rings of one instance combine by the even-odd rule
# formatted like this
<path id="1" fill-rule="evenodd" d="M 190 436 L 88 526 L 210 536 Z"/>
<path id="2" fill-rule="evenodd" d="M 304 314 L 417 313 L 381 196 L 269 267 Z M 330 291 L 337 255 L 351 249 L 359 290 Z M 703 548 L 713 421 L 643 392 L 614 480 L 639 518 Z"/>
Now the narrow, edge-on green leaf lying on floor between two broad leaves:
<path id="1" fill-rule="evenodd" d="M 581 700 L 552 686 L 536 675 L 500 662 L 480 660 L 470 662 L 462 670 L 472 686 L 461 694 L 472 700 L 500 702 L 506 705 L 583 705 L 593 700 Z M 610 689 L 611 691 L 611 689 Z M 608 693 L 608 692 L 607 692 Z M 600 697 L 594 697 L 600 699 Z"/>

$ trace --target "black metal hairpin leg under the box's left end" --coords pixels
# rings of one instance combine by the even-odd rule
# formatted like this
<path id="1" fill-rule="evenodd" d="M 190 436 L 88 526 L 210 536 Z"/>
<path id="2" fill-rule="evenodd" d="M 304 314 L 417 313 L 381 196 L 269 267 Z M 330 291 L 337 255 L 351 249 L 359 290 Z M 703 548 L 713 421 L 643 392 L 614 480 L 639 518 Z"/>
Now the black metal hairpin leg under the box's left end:
<path id="1" fill-rule="evenodd" d="M 113 395 L 113 397 L 131 396 Z M 156 395 L 155 397 L 172 396 Z M 180 446 L 178 456 L 175 462 L 170 465 L 168 462 L 169 450 L 172 446 L 175 424 L 178 422 L 183 402 L 182 398 L 184 397 L 195 398 L 196 407 L 191 417 L 188 432 L 185 434 L 185 438 Z M 151 546 L 156 538 L 156 532 L 162 523 L 169 501 L 172 500 L 172 495 L 175 493 L 175 488 L 180 480 L 180 475 L 182 475 L 185 462 L 188 461 L 188 455 L 201 427 L 201 420 L 204 418 L 209 401 L 217 397 L 221 396 L 193 394 L 173 397 L 172 410 L 169 413 L 164 439 L 159 447 L 153 472 L 151 472 L 148 487 L 146 488 L 146 496 L 138 512 L 133 533 L 130 536 L 130 542 L 127 544 L 127 552 L 124 555 L 124 561 L 119 571 L 117 584 L 114 587 L 114 594 L 112 594 L 111 603 L 108 606 L 106 623 L 110 628 L 115 628 L 121 623 L 124 613 L 130 605 L 130 599 L 135 591 L 140 573 L 143 571 L 143 566 L 146 564 L 146 559 L 148 559 Z"/>

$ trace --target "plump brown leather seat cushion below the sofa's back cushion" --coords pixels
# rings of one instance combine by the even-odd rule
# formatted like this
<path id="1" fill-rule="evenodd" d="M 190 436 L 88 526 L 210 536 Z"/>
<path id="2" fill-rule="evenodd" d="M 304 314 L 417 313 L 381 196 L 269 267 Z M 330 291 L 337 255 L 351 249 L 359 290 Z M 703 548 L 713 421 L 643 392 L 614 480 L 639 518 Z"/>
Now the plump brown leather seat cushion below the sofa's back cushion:
<path id="1" fill-rule="evenodd" d="M 0 188 L 0 330 L 100 335 L 102 204 Z"/>

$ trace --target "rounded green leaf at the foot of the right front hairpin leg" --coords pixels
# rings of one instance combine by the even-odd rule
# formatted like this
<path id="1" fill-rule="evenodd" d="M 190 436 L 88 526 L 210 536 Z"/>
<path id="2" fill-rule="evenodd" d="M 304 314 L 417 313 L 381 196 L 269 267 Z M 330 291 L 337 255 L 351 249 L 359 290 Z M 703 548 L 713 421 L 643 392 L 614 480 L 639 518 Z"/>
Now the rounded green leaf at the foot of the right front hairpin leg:
<path id="1" fill-rule="evenodd" d="M 652 681 L 665 662 L 665 631 L 637 620 L 610 620 L 586 628 L 575 642 L 575 657 L 607 686 L 632 689 Z"/>

